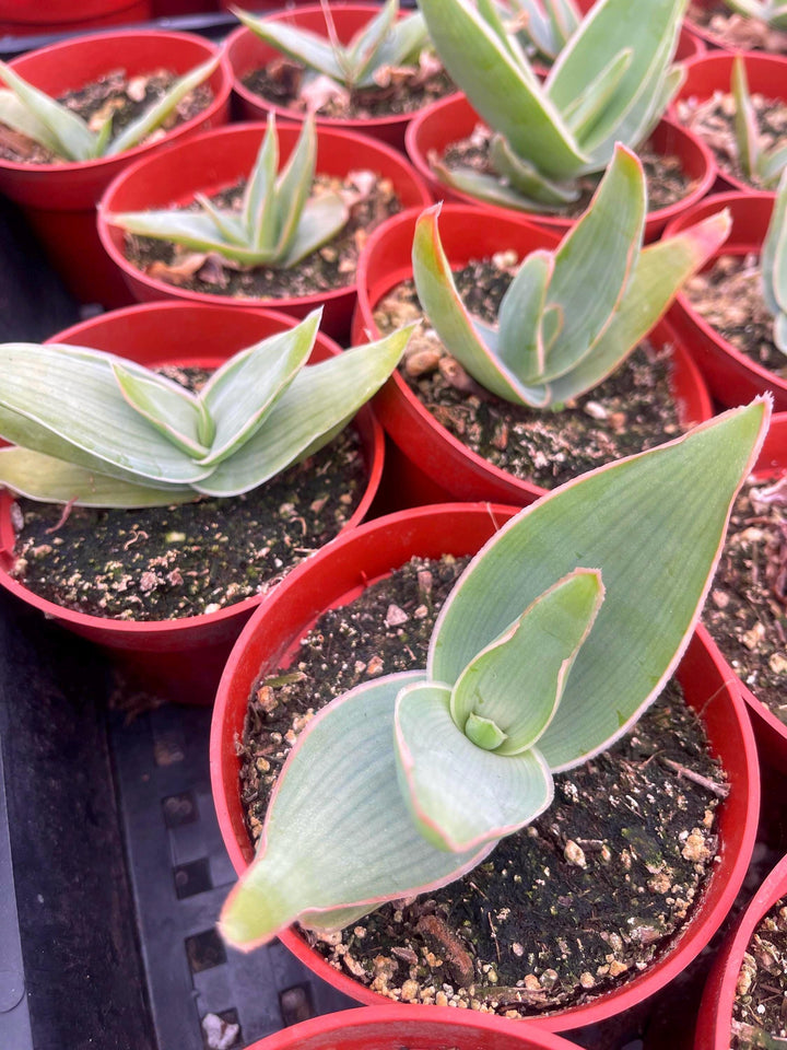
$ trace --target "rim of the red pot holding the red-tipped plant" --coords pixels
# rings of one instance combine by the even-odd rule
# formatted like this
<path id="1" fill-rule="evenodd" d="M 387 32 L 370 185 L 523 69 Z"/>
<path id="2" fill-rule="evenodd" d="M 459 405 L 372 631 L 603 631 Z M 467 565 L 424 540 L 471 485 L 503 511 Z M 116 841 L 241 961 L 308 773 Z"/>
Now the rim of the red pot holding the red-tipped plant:
<path id="1" fill-rule="evenodd" d="M 369 235 L 368 241 L 364 245 L 364 248 L 361 253 L 361 258 L 359 259 L 359 269 L 357 269 L 357 318 L 360 318 L 360 324 L 363 328 L 368 329 L 373 334 L 373 338 L 376 338 L 379 335 L 377 326 L 374 323 L 373 308 L 375 303 L 369 299 L 368 290 L 368 267 L 369 258 L 374 252 L 383 250 L 380 244 L 385 244 L 385 241 L 391 235 L 391 232 L 397 231 L 400 226 L 406 226 L 407 224 L 414 224 L 415 219 L 420 214 L 420 209 L 411 208 L 407 211 L 399 212 L 399 214 L 391 217 L 381 223 L 373 233 Z M 468 230 L 473 229 L 473 223 L 478 222 L 479 209 L 475 206 L 468 205 L 444 205 L 442 212 L 446 219 L 456 217 L 457 219 L 463 219 L 467 222 Z M 533 233 L 533 237 L 543 242 L 544 246 L 553 246 L 559 243 L 559 237 L 556 236 L 556 231 L 554 230 L 543 230 L 538 226 L 537 223 L 531 221 L 526 222 L 524 220 L 514 219 L 512 215 L 502 215 L 496 220 L 496 226 L 501 230 L 505 230 L 506 224 L 509 226 L 513 224 L 518 226 L 520 230 L 522 228 L 529 229 Z M 505 245 L 501 245 L 505 247 Z M 411 272 L 411 271 L 410 271 Z M 402 275 L 397 272 L 393 279 L 390 282 L 390 287 L 393 287 L 398 280 L 402 279 Z M 375 301 L 376 302 L 376 301 Z M 359 327 L 357 324 L 353 325 L 353 330 Z M 693 399 L 695 401 L 695 407 L 697 409 L 697 419 L 688 419 L 685 404 L 682 397 L 679 397 L 674 389 L 674 380 L 673 376 L 670 376 L 670 387 L 672 389 L 673 397 L 677 401 L 679 413 L 681 416 L 681 422 L 683 425 L 689 425 L 690 423 L 702 422 L 706 419 L 710 419 L 714 415 L 713 404 L 710 401 L 710 396 L 705 387 L 700 370 L 692 360 L 689 352 L 685 350 L 681 341 L 678 339 L 676 332 L 669 323 L 662 318 L 658 324 L 651 329 L 649 334 L 655 342 L 663 342 L 672 345 L 672 357 L 674 361 L 680 361 L 680 368 L 683 375 L 686 377 L 686 385 L 692 386 Z M 418 427 L 419 429 L 425 429 L 430 433 L 430 440 L 435 442 L 446 456 L 450 456 L 451 459 L 462 459 L 470 465 L 473 474 L 475 476 L 483 476 L 496 485 L 505 485 L 509 490 L 514 488 L 521 494 L 521 497 L 528 502 L 538 499 L 543 495 L 547 491 L 542 487 L 535 485 L 531 481 L 516 478 L 513 474 L 504 470 L 502 467 L 495 466 L 493 463 L 490 463 L 488 459 L 484 459 L 483 456 L 479 455 L 477 452 L 473 452 L 467 445 L 465 445 L 458 438 L 451 434 L 445 427 L 437 422 L 435 417 L 428 411 L 428 409 L 421 402 L 421 400 L 412 393 L 408 384 L 401 377 L 398 371 L 388 380 L 388 382 L 381 387 L 378 394 L 375 397 L 374 404 L 378 407 L 380 418 L 383 419 L 384 427 L 386 425 L 386 416 L 388 415 L 388 406 L 390 402 L 398 401 L 399 405 L 403 405 L 404 412 L 409 420 L 409 429 Z M 391 409 L 392 410 L 392 409 Z M 406 455 L 409 455 L 407 448 L 402 448 Z M 438 481 L 439 478 L 434 478 Z M 515 493 L 512 491 L 508 499 L 515 499 Z"/>

